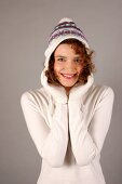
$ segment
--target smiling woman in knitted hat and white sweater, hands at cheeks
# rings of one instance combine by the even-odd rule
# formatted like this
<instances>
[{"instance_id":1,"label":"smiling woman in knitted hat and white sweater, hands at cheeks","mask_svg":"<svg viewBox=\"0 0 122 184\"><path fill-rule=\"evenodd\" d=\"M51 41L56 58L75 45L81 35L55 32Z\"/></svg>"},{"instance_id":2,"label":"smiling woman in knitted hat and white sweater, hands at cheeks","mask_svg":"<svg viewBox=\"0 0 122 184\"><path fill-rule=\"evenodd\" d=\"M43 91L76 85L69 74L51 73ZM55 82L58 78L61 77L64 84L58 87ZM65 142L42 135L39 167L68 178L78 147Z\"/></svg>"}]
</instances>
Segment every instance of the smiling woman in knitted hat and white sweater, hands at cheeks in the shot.
<instances>
[{"instance_id":1,"label":"smiling woman in knitted hat and white sweater, hands at cheeks","mask_svg":"<svg viewBox=\"0 0 122 184\"><path fill-rule=\"evenodd\" d=\"M72 19L50 36L42 87L22 95L29 133L42 158L38 184L105 184L100 152L113 91L94 83L87 40Z\"/></svg>"}]
</instances>

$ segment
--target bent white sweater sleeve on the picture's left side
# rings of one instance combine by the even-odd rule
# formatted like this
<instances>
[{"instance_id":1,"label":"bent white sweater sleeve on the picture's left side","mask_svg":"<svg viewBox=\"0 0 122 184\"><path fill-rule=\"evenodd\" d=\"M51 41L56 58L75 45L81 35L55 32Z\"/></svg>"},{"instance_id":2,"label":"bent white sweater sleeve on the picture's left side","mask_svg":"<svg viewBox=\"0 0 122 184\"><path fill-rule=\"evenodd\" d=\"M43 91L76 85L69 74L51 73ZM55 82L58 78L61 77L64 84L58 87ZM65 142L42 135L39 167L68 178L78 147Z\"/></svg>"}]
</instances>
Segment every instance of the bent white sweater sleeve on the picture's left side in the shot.
<instances>
[{"instance_id":1,"label":"bent white sweater sleeve on the picture's left side","mask_svg":"<svg viewBox=\"0 0 122 184\"><path fill-rule=\"evenodd\" d=\"M45 123L36 101L29 92L21 97L21 105L29 133L42 158L52 167L60 167L67 149L67 104L57 104L52 117L52 128Z\"/></svg>"}]
</instances>

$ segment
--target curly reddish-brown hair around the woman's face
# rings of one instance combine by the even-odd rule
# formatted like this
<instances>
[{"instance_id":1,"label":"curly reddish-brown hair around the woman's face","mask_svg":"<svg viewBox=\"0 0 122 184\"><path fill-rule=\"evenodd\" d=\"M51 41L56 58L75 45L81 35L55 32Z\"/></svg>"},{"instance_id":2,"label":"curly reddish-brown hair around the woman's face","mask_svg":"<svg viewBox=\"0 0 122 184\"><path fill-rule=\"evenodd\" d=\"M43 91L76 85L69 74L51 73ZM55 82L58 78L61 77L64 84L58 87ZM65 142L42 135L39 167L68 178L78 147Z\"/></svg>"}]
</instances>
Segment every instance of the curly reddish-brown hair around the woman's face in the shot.
<instances>
[{"instance_id":1,"label":"curly reddish-brown hair around the woman's face","mask_svg":"<svg viewBox=\"0 0 122 184\"><path fill-rule=\"evenodd\" d=\"M94 51L90 51L90 49L86 49L85 45L77 40L77 39L66 39L64 41L62 41L59 44L70 44L71 48L76 51L77 54L82 54L83 56L83 70L79 76L79 80L77 81L77 83L86 83L87 82L87 77L95 73L95 65L92 61L92 56ZM55 49L56 50L56 49ZM45 71L45 76L48 77L48 82L51 84L55 84L55 86L60 86L59 81L57 80L56 76L55 76L55 71L54 71L54 53L55 51L52 53L50 61L49 61L49 69Z\"/></svg>"}]
</instances>

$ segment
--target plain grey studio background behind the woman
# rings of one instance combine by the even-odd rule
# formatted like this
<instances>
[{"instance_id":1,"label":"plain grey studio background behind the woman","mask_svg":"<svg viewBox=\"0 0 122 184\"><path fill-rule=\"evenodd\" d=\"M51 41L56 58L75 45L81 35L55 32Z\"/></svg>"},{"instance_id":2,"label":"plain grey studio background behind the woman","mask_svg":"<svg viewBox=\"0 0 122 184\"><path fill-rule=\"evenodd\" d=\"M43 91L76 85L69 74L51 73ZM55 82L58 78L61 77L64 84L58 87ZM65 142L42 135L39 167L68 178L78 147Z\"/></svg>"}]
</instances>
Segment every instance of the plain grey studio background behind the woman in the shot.
<instances>
[{"instance_id":1,"label":"plain grey studio background behind the woman","mask_svg":"<svg viewBox=\"0 0 122 184\"><path fill-rule=\"evenodd\" d=\"M49 35L65 16L95 50L96 82L116 93L101 166L107 184L122 183L122 0L0 0L0 184L37 182L41 159L19 98L40 88Z\"/></svg>"}]
</instances>

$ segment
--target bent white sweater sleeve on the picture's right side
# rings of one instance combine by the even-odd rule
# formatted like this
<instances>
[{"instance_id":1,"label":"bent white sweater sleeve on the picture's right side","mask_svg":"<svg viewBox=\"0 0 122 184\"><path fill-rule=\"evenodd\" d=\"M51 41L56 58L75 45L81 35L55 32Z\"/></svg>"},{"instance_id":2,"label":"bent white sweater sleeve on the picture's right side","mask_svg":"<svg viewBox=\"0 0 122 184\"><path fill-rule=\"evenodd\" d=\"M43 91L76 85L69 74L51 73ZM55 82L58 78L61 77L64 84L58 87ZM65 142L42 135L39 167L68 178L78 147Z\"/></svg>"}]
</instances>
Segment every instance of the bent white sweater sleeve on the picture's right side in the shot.
<instances>
[{"instance_id":1,"label":"bent white sweater sleeve on the picture's right side","mask_svg":"<svg viewBox=\"0 0 122 184\"><path fill-rule=\"evenodd\" d=\"M69 129L77 163L85 166L100 153L104 145L110 126L113 91L108 88L104 92L89 126L79 104L77 101L69 102Z\"/></svg>"}]
</instances>

